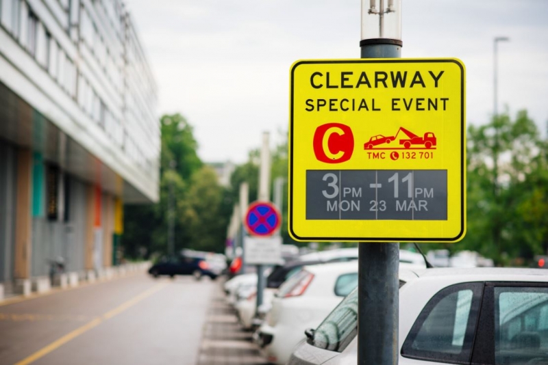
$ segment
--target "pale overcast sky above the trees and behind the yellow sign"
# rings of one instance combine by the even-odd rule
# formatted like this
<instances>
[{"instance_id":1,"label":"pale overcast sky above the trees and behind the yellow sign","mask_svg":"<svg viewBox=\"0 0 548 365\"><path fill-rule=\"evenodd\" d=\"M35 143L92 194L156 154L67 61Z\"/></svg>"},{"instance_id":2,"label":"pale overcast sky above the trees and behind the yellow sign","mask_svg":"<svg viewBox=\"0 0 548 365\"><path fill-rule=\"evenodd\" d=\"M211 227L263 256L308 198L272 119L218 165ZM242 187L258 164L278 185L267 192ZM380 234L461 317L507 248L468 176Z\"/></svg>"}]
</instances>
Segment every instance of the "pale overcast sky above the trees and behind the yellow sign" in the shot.
<instances>
[{"instance_id":1,"label":"pale overcast sky above the trees and behind the yellow sign","mask_svg":"<svg viewBox=\"0 0 548 365\"><path fill-rule=\"evenodd\" d=\"M360 57L358 0L125 0L155 75L159 116L195 126L204 161L237 163L287 131L289 68L297 59ZM402 57L466 65L468 124L493 113L493 38L499 111L548 123L548 1L403 0Z\"/></svg>"}]
</instances>

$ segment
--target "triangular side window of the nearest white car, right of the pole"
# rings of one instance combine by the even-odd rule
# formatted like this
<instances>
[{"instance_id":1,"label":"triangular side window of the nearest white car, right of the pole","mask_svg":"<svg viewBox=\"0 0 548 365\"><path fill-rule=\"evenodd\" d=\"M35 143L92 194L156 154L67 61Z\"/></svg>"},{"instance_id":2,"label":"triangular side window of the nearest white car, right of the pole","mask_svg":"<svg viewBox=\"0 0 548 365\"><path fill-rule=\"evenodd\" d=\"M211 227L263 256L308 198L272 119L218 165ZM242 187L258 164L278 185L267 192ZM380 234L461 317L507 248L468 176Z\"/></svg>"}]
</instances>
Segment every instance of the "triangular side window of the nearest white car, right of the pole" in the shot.
<instances>
[{"instance_id":1,"label":"triangular side window of the nearest white car, right of the pole","mask_svg":"<svg viewBox=\"0 0 548 365\"><path fill-rule=\"evenodd\" d=\"M467 363L482 283L449 286L427 303L403 343L404 357Z\"/></svg>"}]
</instances>

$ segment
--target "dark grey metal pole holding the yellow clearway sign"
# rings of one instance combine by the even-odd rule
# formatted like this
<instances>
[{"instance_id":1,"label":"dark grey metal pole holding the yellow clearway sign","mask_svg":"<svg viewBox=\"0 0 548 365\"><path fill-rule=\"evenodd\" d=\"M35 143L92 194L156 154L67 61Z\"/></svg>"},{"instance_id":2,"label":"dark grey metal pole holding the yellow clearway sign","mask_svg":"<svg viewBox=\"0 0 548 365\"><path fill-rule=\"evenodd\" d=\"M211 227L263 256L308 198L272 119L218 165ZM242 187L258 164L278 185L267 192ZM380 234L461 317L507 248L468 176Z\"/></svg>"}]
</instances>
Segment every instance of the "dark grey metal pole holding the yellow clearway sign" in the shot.
<instances>
[{"instance_id":1,"label":"dark grey metal pole holding the yellow clearway sign","mask_svg":"<svg viewBox=\"0 0 548 365\"><path fill-rule=\"evenodd\" d=\"M396 4L395 4L396 2ZM362 58L400 58L402 42L388 38L385 19L399 1L362 0ZM400 14L397 20L401 21ZM370 38L369 18L378 33ZM389 21L389 20L388 20ZM401 24L401 23L400 23ZM399 25L398 25L399 26ZM400 31L398 28L397 31ZM387 37L387 38L385 38ZM397 36L395 38L398 38ZM360 243L358 248L358 365L395 365L399 345L399 243Z\"/></svg>"}]
</instances>

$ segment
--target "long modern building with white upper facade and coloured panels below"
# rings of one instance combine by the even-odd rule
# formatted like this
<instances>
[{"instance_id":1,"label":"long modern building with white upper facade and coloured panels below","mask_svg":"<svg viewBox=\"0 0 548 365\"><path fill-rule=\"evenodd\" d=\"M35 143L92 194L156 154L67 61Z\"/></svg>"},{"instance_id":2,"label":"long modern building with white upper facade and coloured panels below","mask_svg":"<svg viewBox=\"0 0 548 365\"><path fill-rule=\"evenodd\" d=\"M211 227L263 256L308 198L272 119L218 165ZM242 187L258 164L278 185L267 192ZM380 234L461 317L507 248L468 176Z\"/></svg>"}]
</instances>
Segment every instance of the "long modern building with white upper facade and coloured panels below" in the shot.
<instances>
[{"instance_id":1,"label":"long modern building with white upper facade and coloured panels below","mask_svg":"<svg viewBox=\"0 0 548 365\"><path fill-rule=\"evenodd\" d=\"M157 90L119 0L0 0L0 283L113 264L158 200Z\"/></svg>"}]
</instances>

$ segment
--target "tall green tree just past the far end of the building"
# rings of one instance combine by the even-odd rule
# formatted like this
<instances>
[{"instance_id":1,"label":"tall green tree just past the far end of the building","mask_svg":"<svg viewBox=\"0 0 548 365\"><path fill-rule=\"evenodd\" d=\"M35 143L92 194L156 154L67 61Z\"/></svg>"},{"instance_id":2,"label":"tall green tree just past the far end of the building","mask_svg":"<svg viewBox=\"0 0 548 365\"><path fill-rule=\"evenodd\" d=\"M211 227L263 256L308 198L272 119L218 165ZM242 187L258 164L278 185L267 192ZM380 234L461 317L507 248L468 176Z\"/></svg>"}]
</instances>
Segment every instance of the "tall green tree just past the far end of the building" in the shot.
<instances>
[{"instance_id":1,"label":"tall green tree just past the far end of the building","mask_svg":"<svg viewBox=\"0 0 548 365\"><path fill-rule=\"evenodd\" d=\"M170 199L175 203L175 252L182 248L222 252L229 216L223 188L215 173L203 167L192 126L179 113L162 116L160 126L160 201L124 207L125 254L137 257L142 248L149 254L166 253Z\"/></svg>"}]
</instances>

